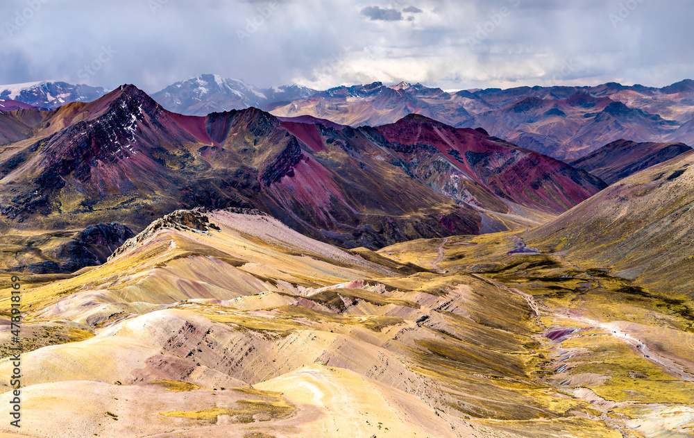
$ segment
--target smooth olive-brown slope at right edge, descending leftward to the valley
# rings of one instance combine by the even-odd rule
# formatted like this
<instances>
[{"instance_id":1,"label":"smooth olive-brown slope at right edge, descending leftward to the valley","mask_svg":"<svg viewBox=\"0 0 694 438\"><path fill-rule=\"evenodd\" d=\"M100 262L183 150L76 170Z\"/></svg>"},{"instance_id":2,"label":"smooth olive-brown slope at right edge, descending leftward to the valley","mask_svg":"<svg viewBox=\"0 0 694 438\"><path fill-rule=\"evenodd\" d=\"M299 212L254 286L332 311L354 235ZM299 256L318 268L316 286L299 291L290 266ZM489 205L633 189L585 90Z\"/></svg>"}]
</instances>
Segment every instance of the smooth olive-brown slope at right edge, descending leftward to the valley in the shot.
<instances>
[{"instance_id":1,"label":"smooth olive-brown slope at right edge, descending leftward to the valley","mask_svg":"<svg viewBox=\"0 0 694 438\"><path fill-rule=\"evenodd\" d=\"M694 152L649 167L527 233L528 244L566 251L636 285L693 297Z\"/></svg>"}]
</instances>

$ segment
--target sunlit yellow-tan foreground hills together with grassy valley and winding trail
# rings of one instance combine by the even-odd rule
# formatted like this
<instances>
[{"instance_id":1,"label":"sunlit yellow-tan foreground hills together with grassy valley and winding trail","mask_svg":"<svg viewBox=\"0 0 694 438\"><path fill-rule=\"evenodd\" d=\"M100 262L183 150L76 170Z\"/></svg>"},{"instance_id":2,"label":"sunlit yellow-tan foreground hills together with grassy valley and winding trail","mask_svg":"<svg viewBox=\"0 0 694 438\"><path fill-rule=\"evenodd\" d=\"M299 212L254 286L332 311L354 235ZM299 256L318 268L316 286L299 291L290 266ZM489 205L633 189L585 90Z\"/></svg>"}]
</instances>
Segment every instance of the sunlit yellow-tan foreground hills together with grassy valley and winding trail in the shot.
<instances>
[{"instance_id":1,"label":"sunlit yellow-tan foreground hills together with grassy valley and winding trail","mask_svg":"<svg viewBox=\"0 0 694 438\"><path fill-rule=\"evenodd\" d=\"M253 210L170 214L101 267L22 279L24 433L690 434L688 305L513 236L373 253ZM80 430L39 420L56 399Z\"/></svg>"}]
</instances>

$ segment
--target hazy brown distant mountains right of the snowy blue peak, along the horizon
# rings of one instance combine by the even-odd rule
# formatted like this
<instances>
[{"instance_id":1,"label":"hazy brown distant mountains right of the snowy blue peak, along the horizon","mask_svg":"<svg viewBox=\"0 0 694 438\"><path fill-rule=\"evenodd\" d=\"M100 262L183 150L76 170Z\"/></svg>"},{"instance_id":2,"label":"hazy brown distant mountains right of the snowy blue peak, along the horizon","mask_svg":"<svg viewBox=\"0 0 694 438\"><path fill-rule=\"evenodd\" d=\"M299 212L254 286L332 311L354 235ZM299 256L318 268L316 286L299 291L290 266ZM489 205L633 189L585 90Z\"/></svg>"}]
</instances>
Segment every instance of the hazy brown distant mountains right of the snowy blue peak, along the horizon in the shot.
<instances>
[{"instance_id":1,"label":"hazy brown distant mountains right of the snowy blue peak, along the horizon","mask_svg":"<svg viewBox=\"0 0 694 438\"><path fill-rule=\"evenodd\" d=\"M280 117L311 115L351 126L390 124L410 113L491 135L559 159L609 142L691 143L694 81L668 87L516 87L443 92L382 83L337 87L272 108Z\"/></svg>"}]
</instances>

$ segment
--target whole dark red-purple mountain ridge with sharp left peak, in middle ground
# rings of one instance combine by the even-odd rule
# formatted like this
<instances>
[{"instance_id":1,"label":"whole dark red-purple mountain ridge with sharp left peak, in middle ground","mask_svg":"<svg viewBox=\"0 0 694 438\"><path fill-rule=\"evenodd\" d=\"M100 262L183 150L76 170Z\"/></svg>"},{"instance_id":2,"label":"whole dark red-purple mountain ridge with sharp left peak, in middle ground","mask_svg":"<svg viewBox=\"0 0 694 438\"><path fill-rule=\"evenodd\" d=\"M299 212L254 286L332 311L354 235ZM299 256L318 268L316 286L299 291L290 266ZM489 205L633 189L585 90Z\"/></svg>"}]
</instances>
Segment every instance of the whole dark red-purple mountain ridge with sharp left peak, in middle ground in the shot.
<instances>
[{"instance_id":1,"label":"whole dark red-purple mountain ridge with sharp left peak, in middle ground","mask_svg":"<svg viewBox=\"0 0 694 438\"><path fill-rule=\"evenodd\" d=\"M306 235L378 248L536 224L604 187L424 117L358 129L311 122L255 108L178 115L133 85L49 112L2 113L3 228L139 230L178 208L253 207ZM22 264L50 258L36 254Z\"/></svg>"}]
</instances>

